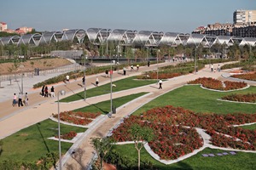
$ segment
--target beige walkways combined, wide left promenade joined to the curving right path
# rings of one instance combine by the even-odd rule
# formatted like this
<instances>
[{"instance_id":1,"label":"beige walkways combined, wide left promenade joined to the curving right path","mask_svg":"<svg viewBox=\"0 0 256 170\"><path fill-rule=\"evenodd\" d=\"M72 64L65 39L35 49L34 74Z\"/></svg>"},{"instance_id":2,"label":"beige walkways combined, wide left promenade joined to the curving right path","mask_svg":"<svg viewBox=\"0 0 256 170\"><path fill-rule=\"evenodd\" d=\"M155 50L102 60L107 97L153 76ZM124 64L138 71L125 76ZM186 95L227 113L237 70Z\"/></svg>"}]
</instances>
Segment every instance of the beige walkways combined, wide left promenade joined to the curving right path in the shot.
<instances>
[{"instance_id":1,"label":"beige walkways combined, wide left promenade joined to the curving right path","mask_svg":"<svg viewBox=\"0 0 256 170\"><path fill-rule=\"evenodd\" d=\"M160 65L170 65L172 63L164 63ZM141 67L140 71L147 71L149 69L156 69L156 65L150 65L150 67ZM140 74L140 71L128 71L128 76L131 77L137 74ZM183 86L186 82L190 80L194 80L197 77L214 77L219 78L221 77L221 74L223 72L211 72L209 67L207 66L202 71L199 71L198 74L189 74L182 77L175 77L170 79L167 82L163 83L163 89L158 89L157 84L151 84L145 87L141 88L133 88L130 90L125 90L122 92L114 93L114 98L119 98L121 96L125 96L128 94L137 94L139 92L149 92L150 94L145 95L141 98L135 99L130 103L130 105L124 105L122 107L119 107L117 110L117 114L113 115L112 118L105 117L102 119L102 122L98 122L96 126L90 127L88 129L82 139L79 139L78 142L73 144L73 147L71 150L67 152L65 156L63 156L62 160L62 167L63 169L84 169L87 167L88 163L91 160L91 157L93 156L93 147L90 144L90 139L94 137L104 137L108 134L109 129L113 128L119 120L121 120L124 116L127 116L131 114L133 111L137 110L142 105L148 103L150 100L155 99L156 97L166 94L167 92L179 88ZM96 80L96 77L99 77L100 79L100 85L104 83L109 82L109 78L101 77L104 76L104 74L100 75L93 75L86 77L86 87L87 88L93 88L94 86L91 84L94 83ZM121 78L124 78L124 76L121 76L118 72L113 73L113 80L118 80ZM67 97L68 95L83 91L84 88L80 86L81 80L74 81L72 80L71 83L67 84L65 86L63 83L59 83L55 85L55 91L58 92L61 89L65 89L67 91ZM60 99L63 98L60 96ZM77 102L73 102L72 104L64 104L61 103L60 109L61 111L71 111L73 109L77 109L80 107L84 107L86 105L91 105L94 103L98 103L100 101L108 100L109 94L102 95L101 97L94 97L90 99L80 100ZM42 98L39 96L38 93L30 94L30 102L31 105L28 107L17 108L11 106L11 100L7 101L7 103L2 102L0 103L1 108L6 108L4 110L1 110L0 116L1 116L1 122L0 122L0 139L3 139L4 137L8 136L9 134L15 133L19 131L20 129L24 127L28 127L36 122L41 122L49 116L51 116L52 113L57 112L57 104L55 103L56 99L49 99L49 98ZM7 105L10 105L7 107ZM45 109L47 108L47 110ZM3 111L3 113L2 113ZM22 120L22 121L20 121ZM12 126L9 126L12 125ZM72 154L72 150L75 150L75 153Z\"/></svg>"}]
</instances>

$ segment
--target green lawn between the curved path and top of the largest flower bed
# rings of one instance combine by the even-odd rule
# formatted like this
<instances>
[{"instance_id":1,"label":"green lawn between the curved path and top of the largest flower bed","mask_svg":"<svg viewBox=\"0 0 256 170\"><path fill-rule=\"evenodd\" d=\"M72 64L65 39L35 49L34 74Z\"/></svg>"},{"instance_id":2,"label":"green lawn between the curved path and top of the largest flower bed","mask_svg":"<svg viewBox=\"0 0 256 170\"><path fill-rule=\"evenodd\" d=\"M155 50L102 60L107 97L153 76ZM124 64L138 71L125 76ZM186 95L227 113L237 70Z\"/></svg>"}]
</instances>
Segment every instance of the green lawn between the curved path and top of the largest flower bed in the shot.
<instances>
[{"instance_id":1,"label":"green lawn between the curved path and top of the largest flower bed","mask_svg":"<svg viewBox=\"0 0 256 170\"><path fill-rule=\"evenodd\" d=\"M176 107L180 106L185 109L201 113L228 114L242 112L253 114L256 113L256 105L232 103L227 101L219 101L217 99L220 99L224 95L252 94L255 91L256 87L250 87L233 92L216 92L203 89L200 87L200 85L188 85L177 88L167 94L163 94L160 97L153 99L148 104L143 105L143 107L135 111L133 114L140 115L144 111L165 105L173 105Z\"/></svg>"}]
</instances>

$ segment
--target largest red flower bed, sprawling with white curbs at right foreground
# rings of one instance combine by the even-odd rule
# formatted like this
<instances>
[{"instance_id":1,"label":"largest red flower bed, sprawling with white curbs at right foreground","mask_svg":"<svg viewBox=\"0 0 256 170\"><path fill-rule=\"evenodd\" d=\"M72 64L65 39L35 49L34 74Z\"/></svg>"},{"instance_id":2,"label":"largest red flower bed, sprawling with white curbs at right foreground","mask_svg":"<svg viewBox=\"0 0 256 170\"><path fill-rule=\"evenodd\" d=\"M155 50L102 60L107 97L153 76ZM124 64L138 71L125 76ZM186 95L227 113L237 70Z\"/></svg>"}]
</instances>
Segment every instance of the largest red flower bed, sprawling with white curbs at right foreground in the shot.
<instances>
[{"instance_id":1,"label":"largest red flower bed, sprawling with white curbs at right foreground","mask_svg":"<svg viewBox=\"0 0 256 170\"><path fill-rule=\"evenodd\" d=\"M189 154L202 146L201 136L195 127L207 130L212 136L212 144L242 150L255 150L256 132L234 124L256 122L256 114L242 113L217 115L195 114L181 107L167 105L146 111L142 116L130 116L113 130L113 139L118 142L131 141L129 129L134 123L154 129L154 140L148 142L151 150L160 159L172 160ZM230 135L231 138L223 134ZM240 140L236 140L240 139Z\"/></svg>"}]
</instances>

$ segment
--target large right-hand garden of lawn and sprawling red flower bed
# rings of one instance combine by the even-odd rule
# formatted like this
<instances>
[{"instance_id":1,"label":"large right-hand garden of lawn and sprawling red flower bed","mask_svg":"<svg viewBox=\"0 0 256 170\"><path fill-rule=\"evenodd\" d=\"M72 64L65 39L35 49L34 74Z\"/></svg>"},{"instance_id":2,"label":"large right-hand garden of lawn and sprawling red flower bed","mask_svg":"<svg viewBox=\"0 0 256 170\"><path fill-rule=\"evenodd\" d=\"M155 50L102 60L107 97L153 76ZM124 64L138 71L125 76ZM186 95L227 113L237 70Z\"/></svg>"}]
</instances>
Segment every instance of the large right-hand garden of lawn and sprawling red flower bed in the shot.
<instances>
[{"instance_id":1,"label":"large right-hand garden of lawn and sprawling red flower bed","mask_svg":"<svg viewBox=\"0 0 256 170\"><path fill-rule=\"evenodd\" d=\"M237 87L243 88L243 86ZM201 127L212 137L211 144L219 147L218 150L206 148L195 156L172 165L161 164L155 161L148 151L142 150L142 167L147 169L254 169L253 164L256 161L253 157L256 153L230 152L221 148L255 150L255 124L244 127L232 127L232 125L256 122L254 114L256 105L230 103L218 99L229 94L249 94L255 90L255 87L250 87L223 93L207 90L198 85L183 86L152 100L135 111L132 116L124 120L124 123L113 130L112 137L117 141L132 141L129 133L132 124L153 128L154 140L148 142L150 149L160 157L160 160L173 160L202 146L201 136L195 131L195 127ZM125 144L125 147L115 145L107 160L122 169L136 169L137 150L134 144ZM202 161L206 163L198 163Z\"/></svg>"}]
</instances>

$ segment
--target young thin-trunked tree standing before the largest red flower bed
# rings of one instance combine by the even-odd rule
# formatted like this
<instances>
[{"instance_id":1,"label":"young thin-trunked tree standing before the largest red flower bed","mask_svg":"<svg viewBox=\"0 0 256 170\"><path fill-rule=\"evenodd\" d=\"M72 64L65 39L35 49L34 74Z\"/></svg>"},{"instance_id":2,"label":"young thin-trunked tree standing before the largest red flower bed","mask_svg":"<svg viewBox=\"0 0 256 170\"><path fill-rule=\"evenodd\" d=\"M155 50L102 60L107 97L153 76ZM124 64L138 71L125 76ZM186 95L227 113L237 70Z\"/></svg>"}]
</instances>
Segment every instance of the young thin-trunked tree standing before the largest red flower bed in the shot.
<instances>
[{"instance_id":1,"label":"young thin-trunked tree standing before the largest red flower bed","mask_svg":"<svg viewBox=\"0 0 256 170\"><path fill-rule=\"evenodd\" d=\"M134 146L137 150L137 167L140 170L141 150L144 144L154 139L154 131L149 127L141 127L138 124L134 124L131 126L129 133L131 133L131 139L134 141Z\"/></svg>"}]
</instances>

